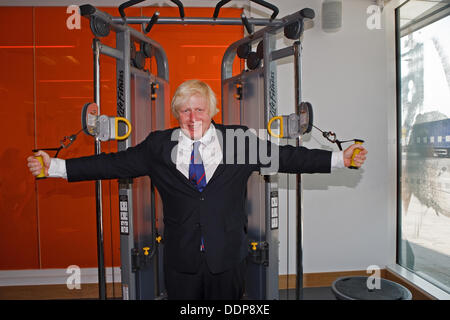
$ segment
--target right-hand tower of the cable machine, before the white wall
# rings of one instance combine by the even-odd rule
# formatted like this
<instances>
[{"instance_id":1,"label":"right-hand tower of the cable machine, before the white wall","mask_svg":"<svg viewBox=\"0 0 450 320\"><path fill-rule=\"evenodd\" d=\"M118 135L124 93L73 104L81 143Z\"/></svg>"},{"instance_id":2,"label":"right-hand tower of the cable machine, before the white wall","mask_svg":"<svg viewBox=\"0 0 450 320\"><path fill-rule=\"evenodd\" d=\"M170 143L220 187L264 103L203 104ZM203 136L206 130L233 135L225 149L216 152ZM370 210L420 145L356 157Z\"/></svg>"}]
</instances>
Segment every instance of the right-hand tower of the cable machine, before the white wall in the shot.
<instances>
[{"instance_id":1,"label":"right-hand tower of the cable machine, before the white wall","mask_svg":"<svg viewBox=\"0 0 450 320\"><path fill-rule=\"evenodd\" d=\"M303 114L301 99L301 43L304 21L314 18L314 11L303 9L282 19L276 26L267 26L233 43L222 60L222 117L224 124L240 124L249 128L269 129L269 120L277 116L277 60L293 56L295 69L295 106ZM294 40L292 46L275 49L277 34ZM256 51L252 45L257 43ZM246 59L248 70L232 74L235 55ZM304 117L302 117L304 118ZM312 121L312 113L310 119ZM307 120L309 123L309 120ZM301 134L306 133L303 130ZM266 139L270 139L267 135ZM273 142L276 142L272 139ZM297 140L299 145L299 140ZM296 299L302 298L302 217L301 177L297 175L297 283ZM249 264L246 295L249 299L279 299L279 199L277 175L254 173L248 182Z\"/></svg>"}]
</instances>

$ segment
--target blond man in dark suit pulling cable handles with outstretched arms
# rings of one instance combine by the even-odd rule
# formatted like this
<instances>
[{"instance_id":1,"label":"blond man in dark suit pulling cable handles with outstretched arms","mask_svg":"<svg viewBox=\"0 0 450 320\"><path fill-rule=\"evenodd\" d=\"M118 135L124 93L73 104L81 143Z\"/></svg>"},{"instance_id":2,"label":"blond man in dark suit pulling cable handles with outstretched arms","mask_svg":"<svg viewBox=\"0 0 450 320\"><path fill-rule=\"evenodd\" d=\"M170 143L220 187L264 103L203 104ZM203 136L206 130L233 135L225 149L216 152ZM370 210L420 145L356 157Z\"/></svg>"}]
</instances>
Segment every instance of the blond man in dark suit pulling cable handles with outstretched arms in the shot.
<instances>
[{"instance_id":1,"label":"blond man in dark suit pulling cable handles with outstretched arms","mask_svg":"<svg viewBox=\"0 0 450 320\"><path fill-rule=\"evenodd\" d=\"M169 299L240 299L248 243L245 195L255 171L329 173L332 167L361 166L367 151L343 152L277 146L243 126L212 121L216 99L204 82L181 84L172 100L180 127L155 131L126 151L74 159L44 160L46 176L68 181L148 175L164 206L164 267ZM28 158L33 175L42 169Z\"/></svg>"}]
</instances>

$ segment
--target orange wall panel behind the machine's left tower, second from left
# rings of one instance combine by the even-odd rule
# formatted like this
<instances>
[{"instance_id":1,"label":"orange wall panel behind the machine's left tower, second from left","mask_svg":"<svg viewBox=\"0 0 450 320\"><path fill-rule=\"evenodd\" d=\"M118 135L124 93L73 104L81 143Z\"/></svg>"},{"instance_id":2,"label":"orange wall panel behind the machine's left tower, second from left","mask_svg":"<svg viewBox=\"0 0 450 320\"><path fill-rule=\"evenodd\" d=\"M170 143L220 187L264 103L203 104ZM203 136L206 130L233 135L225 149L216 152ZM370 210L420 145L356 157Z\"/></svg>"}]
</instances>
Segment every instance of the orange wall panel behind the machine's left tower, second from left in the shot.
<instances>
[{"instance_id":1,"label":"orange wall panel behind the machine's left tower, second from left","mask_svg":"<svg viewBox=\"0 0 450 320\"><path fill-rule=\"evenodd\" d=\"M117 14L117 9L108 9ZM131 10L130 10L131 11ZM136 11L139 12L139 11ZM89 21L80 30L66 28L68 14L61 8L36 8L36 109L38 147L57 146L62 137L81 128L81 108L93 101L93 35ZM115 46L115 34L101 39ZM101 113L116 114L115 61L101 57ZM117 150L102 143L103 152ZM90 155L94 140L81 133L62 150L61 158ZM105 262L120 263L117 182L103 182ZM61 179L38 182L42 268L97 265L95 183L67 183ZM112 222L112 224L111 224ZM114 236L111 238L111 231ZM113 249L114 248L114 249ZM113 253L114 250L114 253Z\"/></svg>"}]
</instances>

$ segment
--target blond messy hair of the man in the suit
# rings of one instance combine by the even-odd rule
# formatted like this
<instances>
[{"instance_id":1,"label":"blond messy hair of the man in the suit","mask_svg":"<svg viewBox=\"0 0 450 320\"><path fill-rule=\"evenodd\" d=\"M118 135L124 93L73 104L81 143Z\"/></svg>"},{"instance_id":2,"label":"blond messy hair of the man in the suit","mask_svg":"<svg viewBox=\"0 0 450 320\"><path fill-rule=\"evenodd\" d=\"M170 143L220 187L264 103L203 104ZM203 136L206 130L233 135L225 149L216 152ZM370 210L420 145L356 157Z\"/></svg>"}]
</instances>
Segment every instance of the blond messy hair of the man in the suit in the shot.
<instances>
[{"instance_id":1,"label":"blond messy hair of the man in the suit","mask_svg":"<svg viewBox=\"0 0 450 320\"><path fill-rule=\"evenodd\" d=\"M180 84L173 95L170 107L175 118L179 119L180 114L178 111L180 107L182 107L190 97L196 94L205 97L208 102L209 115L211 118L219 112L219 109L216 108L216 95L211 87L206 82L194 79L187 80Z\"/></svg>"}]
</instances>

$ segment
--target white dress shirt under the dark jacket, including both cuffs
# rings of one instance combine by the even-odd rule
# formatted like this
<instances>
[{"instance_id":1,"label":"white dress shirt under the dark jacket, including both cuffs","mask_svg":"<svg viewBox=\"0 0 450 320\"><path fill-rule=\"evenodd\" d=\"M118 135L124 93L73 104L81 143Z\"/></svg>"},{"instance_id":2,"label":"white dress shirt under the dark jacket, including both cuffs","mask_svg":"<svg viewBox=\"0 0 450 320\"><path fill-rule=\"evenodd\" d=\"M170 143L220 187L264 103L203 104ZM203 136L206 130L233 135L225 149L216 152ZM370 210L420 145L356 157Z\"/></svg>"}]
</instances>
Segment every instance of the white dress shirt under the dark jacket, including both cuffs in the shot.
<instances>
[{"instance_id":1,"label":"white dress shirt under the dark jacket, including both cuffs","mask_svg":"<svg viewBox=\"0 0 450 320\"><path fill-rule=\"evenodd\" d=\"M178 171L189 179L192 145L195 141L186 136L182 130L179 130L179 132L176 167ZM208 183L223 158L222 147L216 134L216 128L212 123L199 141L201 142L199 152L205 167L206 182ZM331 154L331 169L337 168L345 168L343 151L336 151ZM52 178L67 179L66 161L52 158L48 174Z\"/></svg>"}]
</instances>

